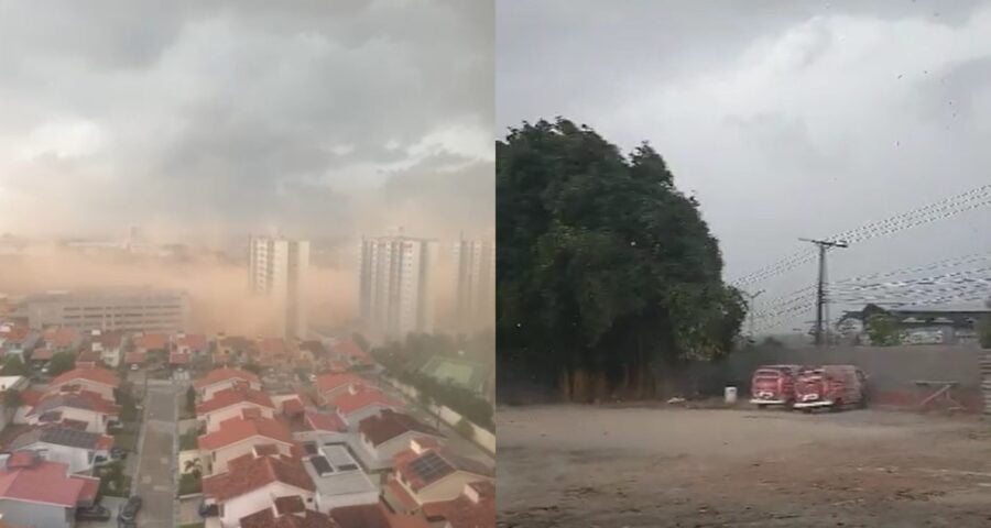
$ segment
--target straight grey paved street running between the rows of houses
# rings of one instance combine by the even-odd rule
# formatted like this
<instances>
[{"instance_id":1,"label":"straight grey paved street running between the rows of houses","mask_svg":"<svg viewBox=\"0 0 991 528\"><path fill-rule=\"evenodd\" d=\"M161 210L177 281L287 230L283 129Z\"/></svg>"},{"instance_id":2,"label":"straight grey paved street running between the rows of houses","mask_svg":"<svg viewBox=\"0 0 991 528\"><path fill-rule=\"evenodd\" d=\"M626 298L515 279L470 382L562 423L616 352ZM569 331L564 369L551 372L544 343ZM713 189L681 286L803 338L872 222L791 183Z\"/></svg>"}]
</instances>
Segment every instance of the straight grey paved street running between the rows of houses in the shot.
<instances>
[{"instance_id":1,"label":"straight grey paved street running between the rows of houses","mask_svg":"<svg viewBox=\"0 0 991 528\"><path fill-rule=\"evenodd\" d=\"M174 453L176 387L149 386L144 440L138 448L137 493L144 499L138 526L173 528L175 503ZM115 512L116 515L116 512Z\"/></svg>"}]
</instances>

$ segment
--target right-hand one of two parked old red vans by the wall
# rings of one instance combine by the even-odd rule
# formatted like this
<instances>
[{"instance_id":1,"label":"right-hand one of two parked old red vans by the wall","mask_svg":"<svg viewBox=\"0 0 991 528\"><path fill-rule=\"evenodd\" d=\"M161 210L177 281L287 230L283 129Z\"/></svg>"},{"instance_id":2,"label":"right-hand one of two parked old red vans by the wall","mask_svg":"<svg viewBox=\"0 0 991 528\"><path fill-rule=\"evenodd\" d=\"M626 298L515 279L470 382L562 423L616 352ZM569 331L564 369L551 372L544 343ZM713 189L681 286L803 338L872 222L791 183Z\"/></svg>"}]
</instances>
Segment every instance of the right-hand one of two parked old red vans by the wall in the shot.
<instances>
[{"instance_id":1,"label":"right-hand one of two parked old red vans by the wall","mask_svg":"<svg viewBox=\"0 0 991 528\"><path fill-rule=\"evenodd\" d=\"M804 366L795 380L794 408L840 410L867 405L867 376L853 365Z\"/></svg>"}]
</instances>

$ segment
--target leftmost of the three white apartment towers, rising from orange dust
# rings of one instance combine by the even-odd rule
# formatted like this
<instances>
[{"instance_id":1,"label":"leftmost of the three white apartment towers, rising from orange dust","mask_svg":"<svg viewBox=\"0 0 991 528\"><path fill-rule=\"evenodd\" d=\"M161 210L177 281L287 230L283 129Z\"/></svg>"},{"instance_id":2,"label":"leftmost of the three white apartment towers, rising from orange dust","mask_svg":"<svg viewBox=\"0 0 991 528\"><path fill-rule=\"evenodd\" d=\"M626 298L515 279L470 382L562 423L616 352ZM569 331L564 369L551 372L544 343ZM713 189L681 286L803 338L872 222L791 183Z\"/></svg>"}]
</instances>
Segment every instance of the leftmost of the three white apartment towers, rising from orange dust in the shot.
<instances>
[{"instance_id":1,"label":"leftmost of the three white apartment towers, rising from orange dust","mask_svg":"<svg viewBox=\"0 0 991 528\"><path fill-rule=\"evenodd\" d=\"M309 267L309 242L281 237L252 237L249 243L251 292L275 304L280 332L306 339L303 294Z\"/></svg>"}]
</instances>

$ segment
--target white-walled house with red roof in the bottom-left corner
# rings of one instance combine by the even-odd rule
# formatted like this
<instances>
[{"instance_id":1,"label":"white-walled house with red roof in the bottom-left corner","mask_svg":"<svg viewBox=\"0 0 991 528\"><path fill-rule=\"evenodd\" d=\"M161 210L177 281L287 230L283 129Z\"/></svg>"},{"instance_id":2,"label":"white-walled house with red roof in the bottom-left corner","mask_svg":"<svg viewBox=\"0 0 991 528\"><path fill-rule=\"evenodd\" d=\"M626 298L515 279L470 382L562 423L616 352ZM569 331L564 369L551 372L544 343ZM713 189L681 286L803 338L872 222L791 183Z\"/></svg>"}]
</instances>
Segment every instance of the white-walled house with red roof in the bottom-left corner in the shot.
<instances>
[{"instance_id":1,"label":"white-walled house with red roof in the bottom-left corner","mask_svg":"<svg viewBox=\"0 0 991 528\"><path fill-rule=\"evenodd\" d=\"M99 479L73 475L68 466L17 451L0 455L0 512L14 526L70 528L76 508L92 506Z\"/></svg>"}]
</instances>

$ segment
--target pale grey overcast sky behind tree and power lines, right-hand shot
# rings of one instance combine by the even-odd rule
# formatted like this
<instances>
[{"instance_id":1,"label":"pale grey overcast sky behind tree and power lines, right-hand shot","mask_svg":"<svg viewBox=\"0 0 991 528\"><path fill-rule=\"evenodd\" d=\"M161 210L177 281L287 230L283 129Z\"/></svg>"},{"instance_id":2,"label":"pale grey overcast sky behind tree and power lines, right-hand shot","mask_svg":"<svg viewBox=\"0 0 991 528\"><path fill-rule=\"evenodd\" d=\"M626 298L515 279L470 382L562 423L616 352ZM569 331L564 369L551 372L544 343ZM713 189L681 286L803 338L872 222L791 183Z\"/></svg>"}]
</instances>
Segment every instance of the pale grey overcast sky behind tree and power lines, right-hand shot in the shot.
<instances>
[{"instance_id":1,"label":"pale grey overcast sky behind tree and power lines, right-hand shot","mask_svg":"<svg viewBox=\"0 0 991 528\"><path fill-rule=\"evenodd\" d=\"M624 150L650 141L727 278L991 184L988 1L500 0L496 38L497 135L564 116ZM837 251L830 276L991 253L989 210ZM770 300L814 277L748 288Z\"/></svg>"}]
</instances>

